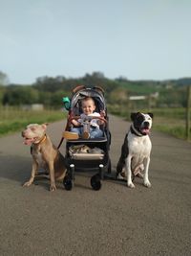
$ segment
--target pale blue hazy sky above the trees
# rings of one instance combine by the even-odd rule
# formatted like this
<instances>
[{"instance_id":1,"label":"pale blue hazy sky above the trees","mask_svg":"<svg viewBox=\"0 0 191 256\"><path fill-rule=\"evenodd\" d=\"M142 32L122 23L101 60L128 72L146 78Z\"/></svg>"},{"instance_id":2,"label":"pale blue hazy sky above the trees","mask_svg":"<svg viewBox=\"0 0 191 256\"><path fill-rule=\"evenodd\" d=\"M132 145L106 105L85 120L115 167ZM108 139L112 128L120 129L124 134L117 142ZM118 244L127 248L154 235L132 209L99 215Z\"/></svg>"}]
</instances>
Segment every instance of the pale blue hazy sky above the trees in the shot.
<instances>
[{"instance_id":1,"label":"pale blue hazy sky above the trees","mask_svg":"<svg viewBox=\"0 0 191 256\"><path fill-rule=\"evenodd\" d=\"M21 84L191 77L191 1L0 0L0 71Z\"/></svg>"}]
</instances>

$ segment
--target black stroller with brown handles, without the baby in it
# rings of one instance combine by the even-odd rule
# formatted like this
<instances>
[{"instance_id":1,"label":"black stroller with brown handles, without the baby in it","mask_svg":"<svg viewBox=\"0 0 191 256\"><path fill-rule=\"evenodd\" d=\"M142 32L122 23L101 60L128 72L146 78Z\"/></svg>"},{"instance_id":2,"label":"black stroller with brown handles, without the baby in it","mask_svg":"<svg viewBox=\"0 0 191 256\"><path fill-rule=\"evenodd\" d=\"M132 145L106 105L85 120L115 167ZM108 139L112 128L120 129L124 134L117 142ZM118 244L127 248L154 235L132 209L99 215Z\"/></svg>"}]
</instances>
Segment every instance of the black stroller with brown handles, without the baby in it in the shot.
<instances>
[{"instance_id":1,"label":"black stroller with brown handles, without the baby in it","mask_svg":"<svg viewBox=\"0 0 191 256\"><path fill-rule=\"evenodd\" d=\"M105 105L104 91L101 87L87 88L84 85L79 85L74 88L70 103L68 102L66 107L69 110L69 114L65 130L71 130L72 119L79 119L79 115L81 114L81 100L85 97L92 97L94 99L96 112L104 111L104 118L91 118L104 120L104 125L100 126L103 130L103 137L89 139L78 138L66 141L65 161L67 174L63 180L66 190L72 190L75 172L96 173L91 177L90 182L94 190L101 188L101 180L104 179L104 174L106 172L108 174L111 173L111 159L109 157L111 133L109 131L109 118ZM84 121L84 125L87 125L87 122L87 120Z\"/></svg>"}]
</instances>

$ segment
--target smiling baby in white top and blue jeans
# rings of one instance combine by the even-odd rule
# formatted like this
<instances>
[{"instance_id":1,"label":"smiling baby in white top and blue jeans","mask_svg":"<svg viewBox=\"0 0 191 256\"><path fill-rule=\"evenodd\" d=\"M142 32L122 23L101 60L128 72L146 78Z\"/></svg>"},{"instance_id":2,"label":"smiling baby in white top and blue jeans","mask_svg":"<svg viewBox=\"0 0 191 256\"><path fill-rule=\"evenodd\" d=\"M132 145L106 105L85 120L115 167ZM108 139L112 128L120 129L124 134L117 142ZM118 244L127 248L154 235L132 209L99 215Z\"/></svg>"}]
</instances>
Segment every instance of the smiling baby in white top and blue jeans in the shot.
<instances>
[{"instance_id":1,"label":"smiling baby in white top and blue jeans","mask_svg":"<svg viewBox=\"0 0 191 256\"><path fill-rule=\"evenodd\" d=\"M85 97L81 100L81 109L83 111L80 114L78 120L72 119L71 123L73 128L70 131L65 131L63 136L66 139L77 139L78 137L83 139L99 138L103 136L103 130L99 126L104 125L104 121L96 119L95 117L104 118L104 110L96 112L96 104L92 97Z\"/></svg>"}]
</instances>

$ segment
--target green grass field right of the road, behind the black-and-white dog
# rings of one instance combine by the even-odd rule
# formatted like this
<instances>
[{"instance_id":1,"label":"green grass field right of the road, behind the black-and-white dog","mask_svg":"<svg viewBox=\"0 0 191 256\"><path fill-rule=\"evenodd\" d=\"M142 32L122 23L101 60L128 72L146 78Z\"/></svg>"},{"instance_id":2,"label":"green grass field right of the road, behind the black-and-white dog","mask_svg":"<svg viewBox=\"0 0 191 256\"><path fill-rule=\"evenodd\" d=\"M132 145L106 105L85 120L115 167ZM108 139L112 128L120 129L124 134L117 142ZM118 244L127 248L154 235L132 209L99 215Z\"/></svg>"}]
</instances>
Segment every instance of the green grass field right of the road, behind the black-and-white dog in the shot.
<instances>
[{"instance_id":1,"label":"green grass field right of the road, behind the black-and-white dog","mask_svg":"<svg viewBox=\"0 0 191 256\"><path fill-rule=\"evenodd\" d=\"M185 139L185 108L153 108L153 109L124 109L121 106L109 106L109 111L130 120L131 112L153 112L153 128L177 138ZM191 117L190 117L191 118ZM191 132L190 132L191 133Z\"/></svg>"}]
</instances>

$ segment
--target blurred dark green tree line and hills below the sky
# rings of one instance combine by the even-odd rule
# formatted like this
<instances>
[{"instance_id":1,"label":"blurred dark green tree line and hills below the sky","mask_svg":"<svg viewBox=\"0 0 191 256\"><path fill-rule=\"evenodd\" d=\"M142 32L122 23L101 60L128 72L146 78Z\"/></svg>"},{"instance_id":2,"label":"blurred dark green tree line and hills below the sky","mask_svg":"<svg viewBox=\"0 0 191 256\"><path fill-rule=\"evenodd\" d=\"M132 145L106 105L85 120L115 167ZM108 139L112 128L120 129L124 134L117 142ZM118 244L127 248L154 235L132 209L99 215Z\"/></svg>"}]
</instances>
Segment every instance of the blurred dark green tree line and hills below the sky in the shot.
<instances>
[{"instance_id":1,"label":"blurred dark green tree line and hills below the sky","mask_svg":"<svg viewBox=\"0 0 191 256\"><path fill-rule=\"evenodd\" d=\"M171 81L129 81L119 77L115 80L105 78L103 73L94 72L82 78L40 77L30 85L10 84L6 74L0 72L0 105L31 105L60 107L62 97L70 97L77 85L87 87L101 86L106 101L110 105L130 105L130 96L145 95L152 104L158 106L185 106L186 86L191 79ZM158 97L153 97L157 95ZM132 104L132 103L131 103ZM142 107L145 102L137 102Z\"/></svg>"}]
</instances>

